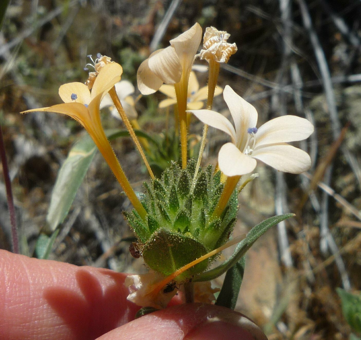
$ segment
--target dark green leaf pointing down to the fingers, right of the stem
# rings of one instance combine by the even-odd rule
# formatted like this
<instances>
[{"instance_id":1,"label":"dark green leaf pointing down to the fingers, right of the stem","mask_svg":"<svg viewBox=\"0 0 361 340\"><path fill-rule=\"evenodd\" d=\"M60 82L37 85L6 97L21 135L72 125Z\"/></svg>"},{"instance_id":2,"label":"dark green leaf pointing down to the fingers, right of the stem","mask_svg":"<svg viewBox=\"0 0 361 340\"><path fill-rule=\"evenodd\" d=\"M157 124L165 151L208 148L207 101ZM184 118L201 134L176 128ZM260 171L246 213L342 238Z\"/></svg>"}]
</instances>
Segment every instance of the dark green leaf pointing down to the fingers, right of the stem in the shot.
<instances>
[{"instance_id":1,"label":"dark green leaf pointing down to the fingers, right of the stem","mask_svg":"<svg viewBox=\"0 0 361 340\"><path fill-rule=\"evenodd\" d=\"M239 289L242 284L244 267L246 258L245 255L230 269L227 270L226 277L223 281L223 286L219 292L216 305L235 309Z\"/></svg>"}]
</instances>

